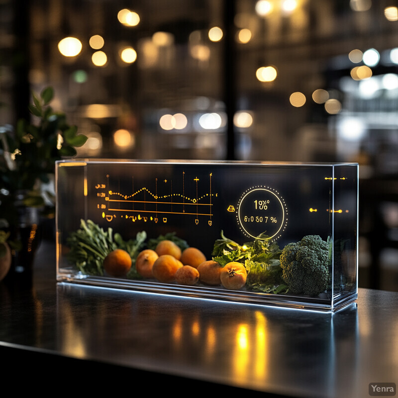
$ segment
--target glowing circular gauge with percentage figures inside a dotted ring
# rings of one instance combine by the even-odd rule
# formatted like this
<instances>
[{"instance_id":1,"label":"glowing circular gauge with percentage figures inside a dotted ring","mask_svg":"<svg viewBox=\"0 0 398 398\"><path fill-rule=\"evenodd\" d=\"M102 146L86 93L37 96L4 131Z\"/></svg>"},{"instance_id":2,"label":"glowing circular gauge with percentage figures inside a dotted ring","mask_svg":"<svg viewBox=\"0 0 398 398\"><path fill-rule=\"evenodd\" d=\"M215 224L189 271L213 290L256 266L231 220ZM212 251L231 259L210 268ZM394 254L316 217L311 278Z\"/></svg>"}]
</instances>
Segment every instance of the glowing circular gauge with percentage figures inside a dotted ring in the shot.
<instances>
[{"instance_id":1,"label":"glowing circular gauge with percentage figures inside a dotted ring","mask_svg":"<svg viewBox=\"0 0 398 398\"><path fill-rule=\"evenodd\" d=\"M253 187L245 191L238 204L238 222L243 232L262 240L278 239L287 224L285 200L274 189Z\"/></svg>"}]
</instances>

